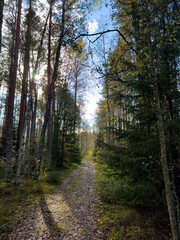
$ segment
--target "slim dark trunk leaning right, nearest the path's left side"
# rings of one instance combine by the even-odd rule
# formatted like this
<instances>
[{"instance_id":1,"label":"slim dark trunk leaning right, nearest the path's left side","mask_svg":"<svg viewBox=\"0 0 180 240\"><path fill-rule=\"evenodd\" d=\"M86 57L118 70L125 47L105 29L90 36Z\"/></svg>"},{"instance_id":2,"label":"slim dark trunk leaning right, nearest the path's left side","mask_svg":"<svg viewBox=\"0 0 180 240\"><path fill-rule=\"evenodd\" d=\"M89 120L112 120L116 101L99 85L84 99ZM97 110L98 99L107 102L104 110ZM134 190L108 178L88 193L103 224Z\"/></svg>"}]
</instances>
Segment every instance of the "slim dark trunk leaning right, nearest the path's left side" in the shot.
<instances>
[{"instance_id":1,"label":"slim dark trunk leaning right, nearest the path's left side","mask_svg":"<svg viewBox=\"0 0 180 240\"><path fill-rule=\"evenodd\" d=\"M42 130L41 130L41 138L40 138L40 141L39 141L37 168L36 168L35 175L34 175L34 179L37 179L37 180L38 180L39 174L40 174L46 127L47 127L47 123L48 123L48 120L49 120L49 114L50 114L50 109L51 109L51 101L52 101L53 95L54 95L54 84L55 84L55 81L56 81L56 78L57 78L57 71L58 71L58 66L59 66L59 58L60 58L62 40L64 38L64 32L65 32L65 28L64 28L64 24L65 24L65 3L66 3L66 0L63 0L63 2L62 2L61 34L60 34L59 41L58 41L58 47L57 47L57 51L56 51L56 60L55 60L55 65L54 65L54 72L53 72L53 76L52 76L51 85L50 85L50 88L49 88L49 95L48 95L48 100L47 100L47 103L46 103L46 111L45 111L45 115L44 115L44 122L43 122Z\"/></svg>"}]
</instances>

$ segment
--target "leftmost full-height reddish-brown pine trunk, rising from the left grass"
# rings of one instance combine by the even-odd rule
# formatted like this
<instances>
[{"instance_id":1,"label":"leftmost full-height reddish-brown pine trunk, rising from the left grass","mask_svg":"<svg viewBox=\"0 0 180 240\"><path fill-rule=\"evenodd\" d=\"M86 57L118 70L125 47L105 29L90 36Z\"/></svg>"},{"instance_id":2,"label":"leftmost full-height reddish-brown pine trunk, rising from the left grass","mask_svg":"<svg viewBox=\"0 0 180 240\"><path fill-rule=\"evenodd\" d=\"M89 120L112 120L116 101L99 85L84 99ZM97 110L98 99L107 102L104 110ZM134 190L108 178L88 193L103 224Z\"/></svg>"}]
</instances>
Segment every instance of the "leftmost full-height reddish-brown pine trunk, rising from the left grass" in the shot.
<instances>
[{"instance_id":1,"label":"leftmost full-height reddish-brown pine trunk, rising from the left grass","mask_svg":"<svg viewBox=\"0 0 180 240\"><path fill-rule=\"evenodd\" d=\"M6 164L5 164L5 180L9 181L12 172L12 154L13 154L13 111L14 111L14 96L16 88L16 76L18 65L18 53L20 44L20 24L21 24L21 5L22 0L18 1L18 16L16 24L16 38L14 50L14 62L10 73L10 86L8 95L8 110L7 110L7 138L6 138Z\"/></svg>"}]
</instances>

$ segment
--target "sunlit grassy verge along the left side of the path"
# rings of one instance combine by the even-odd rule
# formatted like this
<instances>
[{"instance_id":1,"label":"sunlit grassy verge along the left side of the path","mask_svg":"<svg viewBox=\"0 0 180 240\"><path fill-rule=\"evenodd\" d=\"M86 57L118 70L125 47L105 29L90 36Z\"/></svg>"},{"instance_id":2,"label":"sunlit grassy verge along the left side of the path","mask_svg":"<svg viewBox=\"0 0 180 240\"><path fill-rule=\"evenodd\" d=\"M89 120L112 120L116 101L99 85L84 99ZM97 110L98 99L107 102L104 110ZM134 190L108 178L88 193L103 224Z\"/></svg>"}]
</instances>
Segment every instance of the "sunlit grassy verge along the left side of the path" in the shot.
<instances>
[{"instance_id":1,"label":"sunlit grassy verge along the left side of the path","mask_svg":"<svg viewBox=\"0 0 180 240\"><path fill-rule=\"evenodd\" d=\"M5 239L30 214L32 207L39 204L41 196L52 193L76 167L42 173L38 182L22 178L19 186L0 183L0 238Z\"/></svg>"}]
</instances>

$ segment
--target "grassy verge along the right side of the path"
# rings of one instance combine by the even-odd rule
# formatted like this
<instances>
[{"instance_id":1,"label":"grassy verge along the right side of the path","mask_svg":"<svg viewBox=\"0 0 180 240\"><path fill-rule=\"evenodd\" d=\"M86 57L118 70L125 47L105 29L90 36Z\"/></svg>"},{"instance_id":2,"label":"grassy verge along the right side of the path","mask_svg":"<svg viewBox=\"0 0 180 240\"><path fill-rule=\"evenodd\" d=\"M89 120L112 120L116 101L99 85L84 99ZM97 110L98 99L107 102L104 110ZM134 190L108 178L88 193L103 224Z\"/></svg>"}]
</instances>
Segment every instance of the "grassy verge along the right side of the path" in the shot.
<instances>
[{"instance_id":1,"label":"grassy verge along the right side of the path","mask_svg":"<svg viewBox=\"0 0 180 240\"><path fill-rule=\"evenodd\" d=\"M107 177L104 165L94 161L96 166L96 184L101 204L97 207L102 212L98 227L107 240L170 240L169 229L159 228L162 219L159 214L149 214L144 209L128 207L122 202L121 182L117 178ZM157 221L157 219L158 221Z\"/></svg>"}]
</instances>

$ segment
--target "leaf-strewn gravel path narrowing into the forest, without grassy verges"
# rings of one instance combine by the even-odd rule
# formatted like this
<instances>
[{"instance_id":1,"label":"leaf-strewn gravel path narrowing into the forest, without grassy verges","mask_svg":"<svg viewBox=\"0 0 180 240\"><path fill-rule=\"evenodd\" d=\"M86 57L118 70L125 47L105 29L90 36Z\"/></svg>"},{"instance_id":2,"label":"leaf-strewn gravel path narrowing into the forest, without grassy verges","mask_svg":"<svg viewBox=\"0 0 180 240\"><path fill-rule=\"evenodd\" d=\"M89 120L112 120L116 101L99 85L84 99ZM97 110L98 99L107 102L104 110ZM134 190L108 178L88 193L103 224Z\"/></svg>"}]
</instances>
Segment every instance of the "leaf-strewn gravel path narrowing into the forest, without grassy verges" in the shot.
<instances>
[{"instance_id":1,"label":"leaf-strewn gravel path narrowing into the forest, without grassy verges","mask_svg":"<svg viewBox=\"0 0 180 240\"><path fill-rule=\"evenodd\" d=\"M99 203L95 186L95 167L86 157L68 179L40 204L9 235L12 240L100 240L96 226Z\"/></svg>"}]
</instances>

